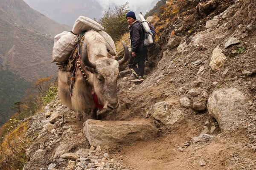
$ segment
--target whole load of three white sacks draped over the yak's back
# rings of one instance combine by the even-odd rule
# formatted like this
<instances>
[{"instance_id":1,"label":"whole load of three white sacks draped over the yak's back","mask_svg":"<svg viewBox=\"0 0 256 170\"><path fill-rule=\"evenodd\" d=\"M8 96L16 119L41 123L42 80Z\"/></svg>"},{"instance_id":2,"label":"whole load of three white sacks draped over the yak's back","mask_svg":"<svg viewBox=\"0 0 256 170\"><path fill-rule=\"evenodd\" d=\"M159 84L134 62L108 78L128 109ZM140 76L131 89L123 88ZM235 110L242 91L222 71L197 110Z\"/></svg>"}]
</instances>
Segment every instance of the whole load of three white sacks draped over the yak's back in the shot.
<instances>
[{"instance_id":1,"label":"whole load of three white sacks draped over the yak's back","mask_svg":"<svg viewBox=\"0 0 256 170\"><path fill-rule=\"evenodd\" d=\"M109 54L115 56L115 43L105 31L102 31L102 29L104 29L104 27L102 27L96 21L84 16L79 16L79 18L75 21L72 31L64 31L54 37L52 62L61 62L67 60L78 43L78 35L81 34L82 31L88 30L98 31L106 41L106 48L108 49Z\"/></svg>"}]
</instances>

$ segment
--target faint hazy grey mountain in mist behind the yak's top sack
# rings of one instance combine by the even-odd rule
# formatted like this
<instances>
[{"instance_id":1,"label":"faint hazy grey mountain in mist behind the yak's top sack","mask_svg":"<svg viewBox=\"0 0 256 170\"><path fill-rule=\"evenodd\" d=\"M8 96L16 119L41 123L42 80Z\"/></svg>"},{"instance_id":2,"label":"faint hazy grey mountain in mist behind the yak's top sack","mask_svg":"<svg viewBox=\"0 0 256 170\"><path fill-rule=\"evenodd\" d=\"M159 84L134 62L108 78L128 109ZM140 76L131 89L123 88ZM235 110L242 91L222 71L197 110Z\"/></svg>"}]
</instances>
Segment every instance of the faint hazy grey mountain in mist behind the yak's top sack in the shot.
<instances>
[{"instance_id":1,"label":"faint hazy grey mountain in mist behind the yak's top sack","mask_svg":"<svg viewBox=\"0 0 256 170\"><path fill-rule=\"evenodd\" d=\"M79 15L91 19L102 16L103 8L95 0L24 0L52 20L73 26Z\"/></svg>"}]
</instances>

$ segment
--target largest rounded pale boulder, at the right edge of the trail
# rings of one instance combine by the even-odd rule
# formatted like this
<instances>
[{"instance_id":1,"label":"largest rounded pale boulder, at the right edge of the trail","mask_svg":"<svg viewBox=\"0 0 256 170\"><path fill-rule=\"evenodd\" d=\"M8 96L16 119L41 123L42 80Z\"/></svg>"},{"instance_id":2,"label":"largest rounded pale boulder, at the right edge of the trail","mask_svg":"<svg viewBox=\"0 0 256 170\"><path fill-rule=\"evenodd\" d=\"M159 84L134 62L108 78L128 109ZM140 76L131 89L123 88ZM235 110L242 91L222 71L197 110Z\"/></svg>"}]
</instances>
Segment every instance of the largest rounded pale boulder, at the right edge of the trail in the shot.
<instances>
[{"instance_id":1,"label":"largest rounded pale boulder, at the right edge of the trail","mask_svg":"<svg viewBox=\"0 0 256 170\"><path fill-rule=\"evenodd\" d=\"M246 119L246 103L244 94L236 88L219 89L212 92L207 108L218 121L221 131L225 131Z\"/></svg>"}]
</instances>

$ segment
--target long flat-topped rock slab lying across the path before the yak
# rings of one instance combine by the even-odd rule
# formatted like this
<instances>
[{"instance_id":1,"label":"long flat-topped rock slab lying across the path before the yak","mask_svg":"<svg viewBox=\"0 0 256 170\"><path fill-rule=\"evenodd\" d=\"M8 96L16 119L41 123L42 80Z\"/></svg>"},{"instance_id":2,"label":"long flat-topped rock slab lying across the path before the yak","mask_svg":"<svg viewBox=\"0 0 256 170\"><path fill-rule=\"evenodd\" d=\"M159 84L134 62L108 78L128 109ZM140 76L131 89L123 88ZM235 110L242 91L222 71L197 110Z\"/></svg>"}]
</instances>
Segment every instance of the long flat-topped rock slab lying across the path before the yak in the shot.
<instances>
[{"instance_id":1,"label":"long flat-topped rock slab lying across the path before the yak","mask_svg":"<svg viewBox=\"0 0 256 170\"><path fill-rule=\"evenodd\" d=\"M92 146L110 146L152 139L157 128L147 121L87 120L84 134Z\"/></svg>"}]
</instances>

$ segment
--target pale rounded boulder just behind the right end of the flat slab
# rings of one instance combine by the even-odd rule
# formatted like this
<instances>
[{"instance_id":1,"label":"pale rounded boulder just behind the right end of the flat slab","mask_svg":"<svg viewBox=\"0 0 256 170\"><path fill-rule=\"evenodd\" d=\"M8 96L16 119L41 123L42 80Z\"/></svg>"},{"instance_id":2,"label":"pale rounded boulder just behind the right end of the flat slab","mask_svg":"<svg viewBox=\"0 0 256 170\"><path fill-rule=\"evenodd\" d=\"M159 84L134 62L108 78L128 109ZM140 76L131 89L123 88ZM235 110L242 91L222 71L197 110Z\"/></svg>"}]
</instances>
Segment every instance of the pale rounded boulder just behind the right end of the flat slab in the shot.
<instances>
[{"instance_id":1,"label":"pale rounded boulder just behind the right end of the flat slab","mask_svg":"<svg viewBox=\"0 0 256 170\"><path fill-rule=\"evenodd\" d=\"M184 116L179 108L173 107L169 102L158 102L150 108L149 112L154 119L159 120L164 125L173 125Z\"/></svg>"}]
</instances>

